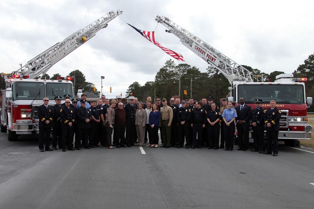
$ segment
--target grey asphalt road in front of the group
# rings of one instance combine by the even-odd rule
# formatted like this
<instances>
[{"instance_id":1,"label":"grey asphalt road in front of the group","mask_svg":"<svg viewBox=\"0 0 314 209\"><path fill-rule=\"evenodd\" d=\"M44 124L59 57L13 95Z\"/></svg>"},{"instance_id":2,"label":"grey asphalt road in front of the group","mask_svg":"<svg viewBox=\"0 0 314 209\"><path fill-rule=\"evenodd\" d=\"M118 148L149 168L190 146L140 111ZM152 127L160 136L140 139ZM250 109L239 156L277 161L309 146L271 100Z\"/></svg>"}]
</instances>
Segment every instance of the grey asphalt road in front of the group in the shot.
<instances>
[{"instance_id":1,"label":"grey asphalt road in front of the group","mask_svg":"<svg viewBox=\"0 0 314 209\"><path fill-rule=\"evenodd\" d=\"M0 208L314 208L314 150L39 152L0 133ZM237 146L236 146L237 148ZM306 151L303 151L306 150Z\"/></svg>"}]
</instances>

